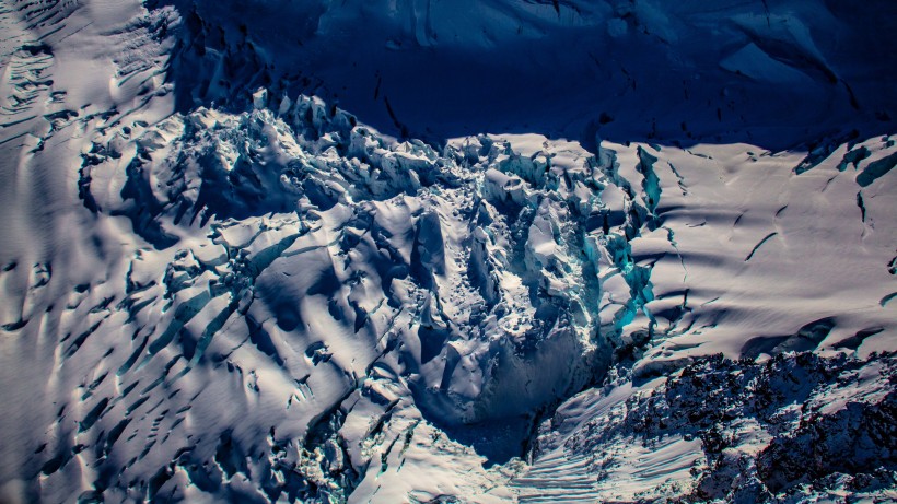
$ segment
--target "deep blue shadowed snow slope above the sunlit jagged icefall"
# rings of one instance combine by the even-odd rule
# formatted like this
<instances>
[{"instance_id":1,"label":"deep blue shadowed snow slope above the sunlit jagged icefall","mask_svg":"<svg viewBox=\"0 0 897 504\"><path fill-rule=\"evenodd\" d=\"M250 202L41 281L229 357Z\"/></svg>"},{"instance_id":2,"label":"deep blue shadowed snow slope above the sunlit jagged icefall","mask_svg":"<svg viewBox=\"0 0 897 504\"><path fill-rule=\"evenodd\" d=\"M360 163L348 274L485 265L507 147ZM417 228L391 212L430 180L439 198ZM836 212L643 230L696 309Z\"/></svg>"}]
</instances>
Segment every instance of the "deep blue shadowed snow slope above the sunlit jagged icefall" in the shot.
<instances>
[{"instance_id":1,"label":"deep blue shadowed snow slope above the sunlit jagged icefall","mask_svg":"<svg viewBox=\"0 0 897 504\"><path fill-rule=\"evenodd\" d=\"M788 149L897 120L888 0L161 0L178 104L266 86L381 131ZM438 118L438 120L434 120ZM885 130L887 128L884 128Z\"/></svg>"}]
</instances>

